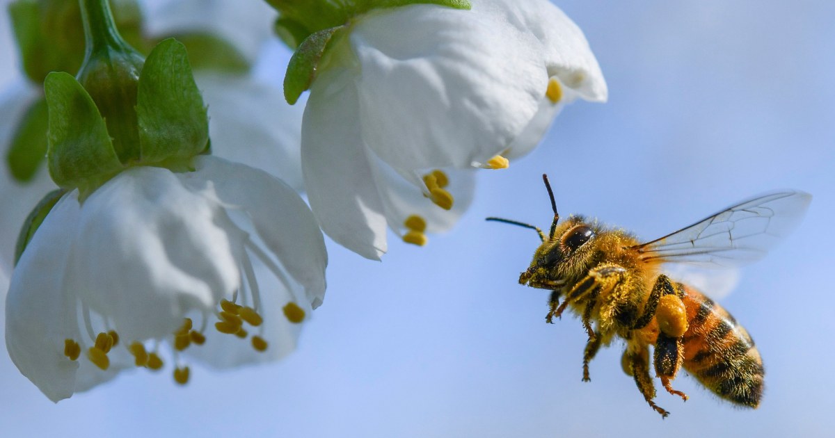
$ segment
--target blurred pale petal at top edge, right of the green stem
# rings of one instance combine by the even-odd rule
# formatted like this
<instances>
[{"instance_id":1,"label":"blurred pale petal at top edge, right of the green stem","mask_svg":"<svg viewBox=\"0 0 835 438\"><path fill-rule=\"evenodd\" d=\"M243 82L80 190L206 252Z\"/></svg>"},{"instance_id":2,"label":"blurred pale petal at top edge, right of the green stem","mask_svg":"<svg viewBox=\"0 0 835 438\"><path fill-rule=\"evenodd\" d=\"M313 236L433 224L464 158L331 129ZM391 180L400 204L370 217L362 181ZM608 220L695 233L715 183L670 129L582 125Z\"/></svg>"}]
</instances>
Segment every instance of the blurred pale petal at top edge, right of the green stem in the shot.
<instances>
[{"instance_id":1,"label":"blurred pale petal at top edge, right of the green stem","mask_svg":"<svg viewBox=\"0 0 835 438\"><path fill-rule=\"evenodd\" d=\"M224 38L247 59L256 58L271 36L276 11L264 2L240 0L145 0L148 33L166 37L212 33Z\"/></svg>"}]
</instances>

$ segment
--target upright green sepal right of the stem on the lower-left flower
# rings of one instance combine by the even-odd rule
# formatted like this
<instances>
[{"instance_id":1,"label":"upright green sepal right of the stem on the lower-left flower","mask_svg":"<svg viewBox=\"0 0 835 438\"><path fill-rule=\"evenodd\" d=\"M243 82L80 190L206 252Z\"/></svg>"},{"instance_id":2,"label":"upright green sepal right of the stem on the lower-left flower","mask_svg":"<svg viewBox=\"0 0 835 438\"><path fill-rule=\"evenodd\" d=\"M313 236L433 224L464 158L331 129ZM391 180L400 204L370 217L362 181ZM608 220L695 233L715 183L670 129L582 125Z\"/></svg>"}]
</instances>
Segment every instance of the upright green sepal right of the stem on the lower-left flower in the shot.
<instances>
[{"instance_id":1,"label":"upright green sepal right of the stem on the lower-left flower","mask_svg":"<svg viewBox=\"0 0 835 438\"><path fill-rule=\"evenodd\" d=\"M190 159L209 141L209 117L185 46L169 38L145 60L136 113L142 162Z\"/></svg>"}]
</instances>

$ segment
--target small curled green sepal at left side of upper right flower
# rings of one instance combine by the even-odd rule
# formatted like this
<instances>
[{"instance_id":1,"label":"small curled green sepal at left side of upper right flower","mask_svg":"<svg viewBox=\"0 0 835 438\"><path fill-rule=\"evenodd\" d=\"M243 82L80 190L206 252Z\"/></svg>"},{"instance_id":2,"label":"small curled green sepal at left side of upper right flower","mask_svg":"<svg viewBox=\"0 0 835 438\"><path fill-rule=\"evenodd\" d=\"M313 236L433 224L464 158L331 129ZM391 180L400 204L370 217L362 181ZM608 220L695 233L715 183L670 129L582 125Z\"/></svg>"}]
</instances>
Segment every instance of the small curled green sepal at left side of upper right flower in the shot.
<instances>
[{"instance_id":1,"label":"small curled green sepal at left side of upper right flower","mask_svg":"<svg viewBox=\"0 0 835 438\"><path fill-rule=\"evenodd\" d=\"M290 58L284 76L284 98L287 103L296 103L301 93L311 88L311 83L316 78L316 67L325 54L327 44L338 32L344 32L345 29L344 26L339 26L321 30L301 42L296 53Z\"/></svg>"}]
</instances>

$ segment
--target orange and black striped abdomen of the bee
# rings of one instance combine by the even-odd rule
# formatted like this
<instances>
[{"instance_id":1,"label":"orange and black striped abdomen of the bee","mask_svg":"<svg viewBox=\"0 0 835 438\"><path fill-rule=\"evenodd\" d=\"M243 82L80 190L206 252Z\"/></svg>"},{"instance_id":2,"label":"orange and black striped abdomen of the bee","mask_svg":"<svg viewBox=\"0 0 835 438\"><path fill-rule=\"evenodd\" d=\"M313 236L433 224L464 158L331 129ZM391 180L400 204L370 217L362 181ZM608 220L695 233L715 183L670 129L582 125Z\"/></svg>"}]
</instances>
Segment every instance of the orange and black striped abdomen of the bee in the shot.
<instances>
[{"instance_id":1,"label":"orange and black striped abdomen of the bee","mask_svg":"<svg viewBox=\"0 0 835 438\"><path fill-rule=\"evenodd\" d=\"M689 322L683 338L685 370L721 398L756 408L764 370L751 335L713 300L684 289Z\"/></svg>"}]
</instances>

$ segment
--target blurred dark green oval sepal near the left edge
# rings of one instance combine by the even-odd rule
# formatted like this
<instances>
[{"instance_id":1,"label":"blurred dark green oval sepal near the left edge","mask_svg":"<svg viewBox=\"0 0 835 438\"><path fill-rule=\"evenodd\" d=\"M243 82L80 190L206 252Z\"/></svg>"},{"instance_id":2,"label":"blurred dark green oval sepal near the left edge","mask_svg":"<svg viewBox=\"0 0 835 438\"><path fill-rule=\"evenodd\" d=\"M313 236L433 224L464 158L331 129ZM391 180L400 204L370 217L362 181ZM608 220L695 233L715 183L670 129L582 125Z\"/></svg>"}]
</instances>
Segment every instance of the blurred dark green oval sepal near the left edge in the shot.
<instances>
[{"instance_id":1,"label":"blurred dark green oval sepal near the left edge","mask_svg":"<svg viewBox=\"0 0 835 438\"><path fill-rule=\"evenodd\" d=\"M32 180L47 156L48 120L47 101L38 98L15 128L6 162L12 177L21 183Z\"/></svg>"}]
</instances>

